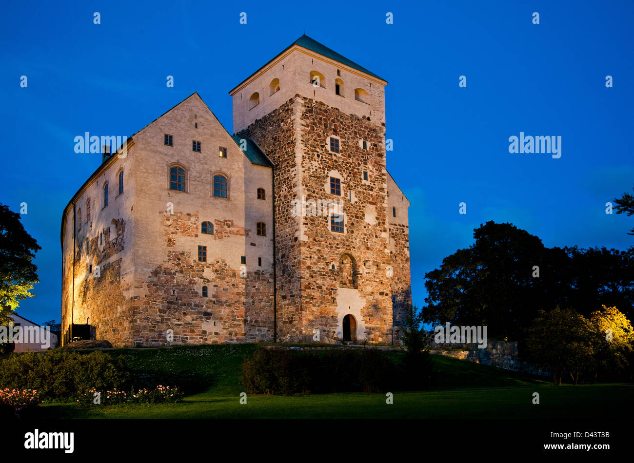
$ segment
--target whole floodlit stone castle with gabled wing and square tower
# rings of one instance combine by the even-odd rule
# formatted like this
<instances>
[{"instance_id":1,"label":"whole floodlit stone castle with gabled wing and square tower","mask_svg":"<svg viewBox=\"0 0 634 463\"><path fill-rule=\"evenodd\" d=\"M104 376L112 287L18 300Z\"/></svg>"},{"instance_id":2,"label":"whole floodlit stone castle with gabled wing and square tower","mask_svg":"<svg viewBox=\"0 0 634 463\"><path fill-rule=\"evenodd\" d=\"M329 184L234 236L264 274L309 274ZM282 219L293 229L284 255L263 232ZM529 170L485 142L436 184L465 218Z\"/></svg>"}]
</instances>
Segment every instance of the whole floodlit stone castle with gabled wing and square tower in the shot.
<instances>
[{"instance_id":1,"label":"whole floodlit stone castle with gabled wing and square tower","mask_svg":"<svg viewBox=\"0 0 634 463\"><path fill-rule=\"evenodd\" d=\"M104 150L61 219L64 343L394 342L410 203L386 84L302 35L230 91L233 135L194 93Z\"/></svg>"}]
</instances>

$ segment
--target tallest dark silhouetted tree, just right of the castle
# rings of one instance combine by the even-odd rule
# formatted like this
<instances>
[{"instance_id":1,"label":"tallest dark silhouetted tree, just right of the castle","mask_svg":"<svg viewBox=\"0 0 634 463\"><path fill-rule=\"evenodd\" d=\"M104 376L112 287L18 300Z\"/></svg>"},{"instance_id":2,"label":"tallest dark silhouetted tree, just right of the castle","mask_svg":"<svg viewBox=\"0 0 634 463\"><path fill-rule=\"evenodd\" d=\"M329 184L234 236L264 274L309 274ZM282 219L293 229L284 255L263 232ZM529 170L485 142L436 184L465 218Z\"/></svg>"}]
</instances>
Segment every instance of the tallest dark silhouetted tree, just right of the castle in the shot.
<instances>
[{"instance_id":1,"label":"tallest dark silhouetted tree, just right of the castle","mask_svg":"<svg viewBox=\"0 0 634 463\"><path fill-rule=\"evenodd\" d=\"M569 258L559 248L512 224L493 221L474 230L475 243L425 274L430 324L486 325L489 336L518 339L540 309L564 301ZM534 266L539 277L534 277Z\"/></svg>"}]
</instances>

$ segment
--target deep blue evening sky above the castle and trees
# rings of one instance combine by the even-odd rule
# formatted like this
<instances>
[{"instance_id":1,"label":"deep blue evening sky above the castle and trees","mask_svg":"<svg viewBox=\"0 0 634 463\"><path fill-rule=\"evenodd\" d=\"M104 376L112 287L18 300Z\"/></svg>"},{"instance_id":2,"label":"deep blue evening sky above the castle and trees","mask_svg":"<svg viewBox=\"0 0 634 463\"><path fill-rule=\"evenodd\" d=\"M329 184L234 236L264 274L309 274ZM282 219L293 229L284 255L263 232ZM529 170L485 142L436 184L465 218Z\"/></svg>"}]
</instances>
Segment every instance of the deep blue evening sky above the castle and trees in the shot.
<instances>
[{"instance_id":1,"label":"deep blue evening sky above the castle and trees","mask_svg":"<svg viewBox=\"0 0 634 463\"><path fill-rule=\"evenodd\" d=\"M22 222L42 246L36 297L18 312L60 319L61 212L101 162L75 154L75 136L131 135L194 91L231 131L228 91L303 28L389 81L387 166L411 201L418 305L425 272L487 220L546 246L634 244L634 217L604 212L634 186L634 2L418 3L5 2L0 202L28 204ZM561 158L508 153L520 131L562 136Z\"/></svg>"}]
</instances>

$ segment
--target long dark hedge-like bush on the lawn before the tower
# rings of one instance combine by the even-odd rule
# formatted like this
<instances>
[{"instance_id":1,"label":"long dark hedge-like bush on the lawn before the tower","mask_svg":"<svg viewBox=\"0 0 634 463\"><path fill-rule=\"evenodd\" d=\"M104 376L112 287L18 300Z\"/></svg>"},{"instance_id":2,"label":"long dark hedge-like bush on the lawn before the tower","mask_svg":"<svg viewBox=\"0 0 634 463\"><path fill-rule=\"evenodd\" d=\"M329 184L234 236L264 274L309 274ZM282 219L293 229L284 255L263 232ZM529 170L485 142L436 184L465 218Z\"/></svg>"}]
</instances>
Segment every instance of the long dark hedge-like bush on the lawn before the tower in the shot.
<instances>
[{"instance_id":1,"label":"long dark hedge-like bush on the lawn before the tower","mask_svg":"<svg viewBox=\"0 0 634 463\"><path fill-rule=\"evenodd\" d=\"M393 390L398 365L374 349L290 352L258 349L242 364L248 393L293 394Z\"/></svg>"}]
</instances>

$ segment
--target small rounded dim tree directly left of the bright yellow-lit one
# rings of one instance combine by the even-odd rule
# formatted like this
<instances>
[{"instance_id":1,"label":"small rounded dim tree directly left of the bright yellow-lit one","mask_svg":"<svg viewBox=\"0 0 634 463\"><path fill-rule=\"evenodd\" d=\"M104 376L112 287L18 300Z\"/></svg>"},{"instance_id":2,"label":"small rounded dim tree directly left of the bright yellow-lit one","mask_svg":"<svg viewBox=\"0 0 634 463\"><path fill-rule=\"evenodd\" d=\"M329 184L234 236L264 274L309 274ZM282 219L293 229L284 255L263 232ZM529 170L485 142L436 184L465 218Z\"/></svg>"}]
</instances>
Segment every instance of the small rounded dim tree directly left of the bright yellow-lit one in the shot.
<instances>
[{"instance_id":1,"label":"small rounded dim tree directly left of the bright yellow-lit one","mask_svg":"<svg viewBox=\"0 0 634 463\"><path fill-rule=\"evenodd\" d=\"M583 315L571 308L541 311L528 330L526 339L529 359L550 369L553 384L558 386L564 374L574 384L579 374L592 369L595 361L596 331Z\"/></svg>"}]
</instances>

